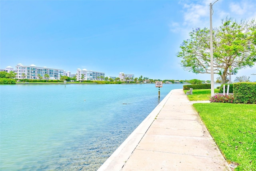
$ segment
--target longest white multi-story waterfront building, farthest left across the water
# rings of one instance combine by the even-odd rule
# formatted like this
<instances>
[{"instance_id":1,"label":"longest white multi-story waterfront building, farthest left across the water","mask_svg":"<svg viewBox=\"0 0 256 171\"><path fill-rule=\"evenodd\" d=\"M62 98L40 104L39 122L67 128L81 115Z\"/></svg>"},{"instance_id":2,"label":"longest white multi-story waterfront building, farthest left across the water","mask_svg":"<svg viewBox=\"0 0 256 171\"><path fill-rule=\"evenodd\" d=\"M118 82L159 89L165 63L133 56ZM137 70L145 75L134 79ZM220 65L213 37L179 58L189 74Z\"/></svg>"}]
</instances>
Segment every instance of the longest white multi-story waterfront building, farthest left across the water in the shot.
<instances>
[{"instance_id":1,"label":"longest white multi-story waterfront building, farthest left across the water","mask_svg":"<svg viewBox=\"0 0 256 171\"><path fill-rule=\"evenodd\" d=\"M60 76L65 75L64 70L47 67L38 67L34 64L30 66L17 64L17 66L15 67L15 72L17 73L16 78L18 79L22 79L24 78L24 76L26 79L39 79L39 76L44 77L45 74L48 74L50 76L50 80L60 80Z\"/></svg>"}]
</instances>

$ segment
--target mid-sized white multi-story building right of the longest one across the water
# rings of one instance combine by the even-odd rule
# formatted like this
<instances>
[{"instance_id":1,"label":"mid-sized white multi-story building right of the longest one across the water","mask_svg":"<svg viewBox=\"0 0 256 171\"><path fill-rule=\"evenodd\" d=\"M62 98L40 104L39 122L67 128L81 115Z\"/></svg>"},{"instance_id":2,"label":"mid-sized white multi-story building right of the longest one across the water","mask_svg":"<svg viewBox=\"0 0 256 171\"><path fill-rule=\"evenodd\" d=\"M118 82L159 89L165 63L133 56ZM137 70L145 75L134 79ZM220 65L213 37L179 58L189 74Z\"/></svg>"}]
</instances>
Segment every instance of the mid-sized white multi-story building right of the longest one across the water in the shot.
<instances>
[{"instance_id":1,"label":"mid-sized white multi-story building right of the longest one across the water","mask_svg":"<svg viewBox=\"0 0 256 171\"><path fill-rule=\"evenodd\" d=\"M86 69L81 70L78 68L76 70L76 80L82 81L82 80L102 80L102 78L105 78L104 72L97 72L97 71L88 71ZM84 78L82 79L82 74Z\"/></svg>"}]
</instances>

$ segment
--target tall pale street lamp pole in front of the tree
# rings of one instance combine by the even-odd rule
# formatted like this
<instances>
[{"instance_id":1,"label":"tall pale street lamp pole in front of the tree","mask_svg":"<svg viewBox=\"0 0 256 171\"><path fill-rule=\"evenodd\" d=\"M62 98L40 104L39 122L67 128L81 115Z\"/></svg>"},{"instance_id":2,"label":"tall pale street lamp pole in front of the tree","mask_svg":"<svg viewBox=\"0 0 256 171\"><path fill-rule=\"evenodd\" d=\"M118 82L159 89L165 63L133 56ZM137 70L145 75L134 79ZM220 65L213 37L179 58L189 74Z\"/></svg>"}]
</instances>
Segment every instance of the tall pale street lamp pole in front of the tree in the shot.
<instances>
[{"instance_id":1,"label":"tall pale street lamp pole in front of the tree","mask_svg":"<svg viewBox=\"0 0 256 171\"><path fill-rule=\"evenodd\" d=\"M217 2L216 0L215 2ZM214 3L215 3L214 2ZM213 4L214 4L213 3ZM210 64L211 64L211 96L214 96L214 76L213 76L213 48L212 48L212 3L210 3Z\"/></svg>"}]
</instances>

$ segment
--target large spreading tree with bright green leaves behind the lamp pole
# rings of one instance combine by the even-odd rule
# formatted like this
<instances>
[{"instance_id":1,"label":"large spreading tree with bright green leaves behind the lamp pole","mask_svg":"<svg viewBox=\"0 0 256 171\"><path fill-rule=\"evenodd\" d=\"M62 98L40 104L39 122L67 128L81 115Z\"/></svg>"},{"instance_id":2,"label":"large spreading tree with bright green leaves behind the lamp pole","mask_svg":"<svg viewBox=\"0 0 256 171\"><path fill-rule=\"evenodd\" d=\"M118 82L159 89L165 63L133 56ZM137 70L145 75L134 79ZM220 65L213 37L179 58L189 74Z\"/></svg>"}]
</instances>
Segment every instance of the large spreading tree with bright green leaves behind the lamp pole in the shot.
<instances>
[{"instance_id":1,"label":"large spreading tree with bright green leaves behind the lamp pole","mask_svg":"<svg viewBox=\"0 0 256 171\"><path fill-rule=\"evenodd\" d=\"M210 30L196 28L184 40L176 54L182 58L184 70L210 74ZM229 75L242 68L252 67L256 62L256 22L233 18L222 20L222 26L213 29L213 67L222 83Z\"/></svg>"}]
</instances>

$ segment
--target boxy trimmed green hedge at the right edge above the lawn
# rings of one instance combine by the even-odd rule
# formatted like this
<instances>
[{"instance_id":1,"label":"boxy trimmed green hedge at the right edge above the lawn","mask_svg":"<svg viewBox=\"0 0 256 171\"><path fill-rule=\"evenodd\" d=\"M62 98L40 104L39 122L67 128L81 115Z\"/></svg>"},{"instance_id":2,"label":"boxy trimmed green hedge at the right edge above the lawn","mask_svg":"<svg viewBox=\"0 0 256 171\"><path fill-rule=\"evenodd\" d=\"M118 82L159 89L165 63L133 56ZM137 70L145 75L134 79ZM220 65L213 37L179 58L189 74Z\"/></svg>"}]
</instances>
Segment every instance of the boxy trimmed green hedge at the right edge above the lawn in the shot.
<instances>
[{"instance_id":1,"label":"boxy trimmed green hedge at the right edge above the lawn","mask_svg":"<svg viewBox=\"0 0 256 171\"><path fill-rule=\"evenodd\" d=\"M235 83L234 102L256 104L256 83Z\"/></svg>"}]
</instances>

